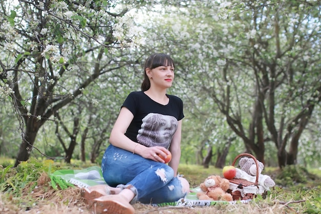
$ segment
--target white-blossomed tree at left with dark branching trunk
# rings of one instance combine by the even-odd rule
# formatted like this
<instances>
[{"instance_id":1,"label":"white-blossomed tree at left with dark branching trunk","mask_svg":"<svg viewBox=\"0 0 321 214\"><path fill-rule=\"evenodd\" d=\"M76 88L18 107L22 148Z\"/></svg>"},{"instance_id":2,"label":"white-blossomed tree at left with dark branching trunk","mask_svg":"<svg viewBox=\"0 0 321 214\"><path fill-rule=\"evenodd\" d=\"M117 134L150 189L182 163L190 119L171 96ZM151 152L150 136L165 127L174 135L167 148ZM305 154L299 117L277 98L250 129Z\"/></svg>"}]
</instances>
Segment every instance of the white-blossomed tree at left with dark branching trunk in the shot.
<instances>
[{"instance_id":1,"label":"white-blossomed tree at left with dark branching trunk","mask_svg":"<svg viewBox=\"0 0 321 214\"><path fill-rule=\"evenodd\" d=\"M22 123L15 165L29 158L40 127L81 100L100 76L132 65L140 45L129 10L136 1L2 1L0 96ZM97 100L85 100L93 105Z\"/></svg>"}]
</instances>

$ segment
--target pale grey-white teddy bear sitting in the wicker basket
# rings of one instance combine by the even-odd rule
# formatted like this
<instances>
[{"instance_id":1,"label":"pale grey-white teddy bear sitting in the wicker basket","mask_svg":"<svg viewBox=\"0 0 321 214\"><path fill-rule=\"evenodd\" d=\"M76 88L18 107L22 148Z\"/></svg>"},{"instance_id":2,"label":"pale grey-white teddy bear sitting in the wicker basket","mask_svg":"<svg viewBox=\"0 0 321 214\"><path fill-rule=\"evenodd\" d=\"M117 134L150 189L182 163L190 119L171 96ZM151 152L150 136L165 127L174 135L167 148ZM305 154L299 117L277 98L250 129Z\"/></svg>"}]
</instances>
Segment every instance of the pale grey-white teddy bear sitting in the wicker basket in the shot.
<instances>
[{"instance_id":1,"label":"pale grey-white teddy bear sitting in the wicker basket","mask_svg":"<svg viewBox=\"0 0 321 214\"><path fill-rule=\"evenodd\" d=\"M263 186L266 190L269 190L269 187L273 187L275 182L268 175L262 175L264 169L264 164L260 161L258 163L258 185ZM239 160L239 168L236 168L236 179L245 179L247 181L255 183L256 181L256 164L252 158L243 157Z\"/></svg>"}]
</instances>

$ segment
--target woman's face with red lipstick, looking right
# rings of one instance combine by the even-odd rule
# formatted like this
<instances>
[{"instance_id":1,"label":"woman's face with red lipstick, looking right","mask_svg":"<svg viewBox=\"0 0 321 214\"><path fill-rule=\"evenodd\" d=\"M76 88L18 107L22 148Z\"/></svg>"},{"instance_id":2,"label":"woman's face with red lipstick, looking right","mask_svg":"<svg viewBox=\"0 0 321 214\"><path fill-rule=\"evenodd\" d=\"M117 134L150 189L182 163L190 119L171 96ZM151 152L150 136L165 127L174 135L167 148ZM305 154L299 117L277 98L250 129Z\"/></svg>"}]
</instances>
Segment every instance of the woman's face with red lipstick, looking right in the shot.
<instances>
[{"instance_id":1,"label":"woman's face with red lipstick, looking right","mask_svg":"<svg viewBox=\"0 0 321 214\"><path fill-rule=\"evenodd\" d=\"M170 88L174 80L173 66L159 66L154 69L146 69L146 73L152 82L160 88Z\"/></svg>"}]
</instances>

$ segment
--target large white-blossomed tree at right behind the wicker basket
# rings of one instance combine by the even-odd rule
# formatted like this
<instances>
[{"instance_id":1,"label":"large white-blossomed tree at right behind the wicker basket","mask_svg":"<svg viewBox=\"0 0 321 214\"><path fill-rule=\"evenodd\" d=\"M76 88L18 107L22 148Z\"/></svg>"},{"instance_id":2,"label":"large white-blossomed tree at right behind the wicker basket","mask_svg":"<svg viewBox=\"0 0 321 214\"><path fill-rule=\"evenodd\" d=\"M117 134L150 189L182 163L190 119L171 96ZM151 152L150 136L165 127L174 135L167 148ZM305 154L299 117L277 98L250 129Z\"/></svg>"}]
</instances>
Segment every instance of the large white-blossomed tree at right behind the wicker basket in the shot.
<instances>
[{"instance_id":1,"label":"large white-blossomed tree at right behind the wicker basket","mask_svg":"<svg viewBox=\"0 0 321 214\"><path fill-rule=\"evenodd\" d=\"M319 6L318 1L191 1L162 19L166 37L153 34L157 39L148 40L176 56L178 75L190 87L185 98L193 100L191 113L216 117L218 108L244 142L239 152L245 148L264 162L265 146L272 142L283 167L297 162L299 142L320 102ZM220 124L212 134L215 128Z\"/></svg>"}]
</instances>

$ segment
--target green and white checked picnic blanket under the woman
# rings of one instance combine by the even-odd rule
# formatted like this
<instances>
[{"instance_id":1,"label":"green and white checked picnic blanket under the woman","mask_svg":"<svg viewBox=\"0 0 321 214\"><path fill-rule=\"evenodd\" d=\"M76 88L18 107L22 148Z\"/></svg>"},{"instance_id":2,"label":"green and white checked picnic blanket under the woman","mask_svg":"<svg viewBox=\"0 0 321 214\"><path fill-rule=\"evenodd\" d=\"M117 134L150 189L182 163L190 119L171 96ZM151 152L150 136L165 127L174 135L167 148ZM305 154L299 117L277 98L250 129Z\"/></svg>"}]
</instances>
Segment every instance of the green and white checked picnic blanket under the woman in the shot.
<instances>
[{"instance_id":1,"label":"green and white checked picnic blanket under the woman","mask_svg":"<svg viewBox=\"0 0 321 214\"><path fill-rule=\"evenodd\" d=\"M89 186L94 186L98 184L106 184L102 170L98 166L90 166L85 169L60 169L56 170L50 175L52 182L57 183L62 188L68 187L70 184L84 188ZM62 182L63 181L63 182ZM64 182L66 182L64 184ZM162 204L152 204L153 206L212 206L215 204L235 204L237 201L208 201L208 200L198 200L196 194L201 191L199 187L192 188L185 198L179 199L176 202L162 203ZM248 203L249 200L240 200L240 203Z\"/></svg>"}]
</instances>

